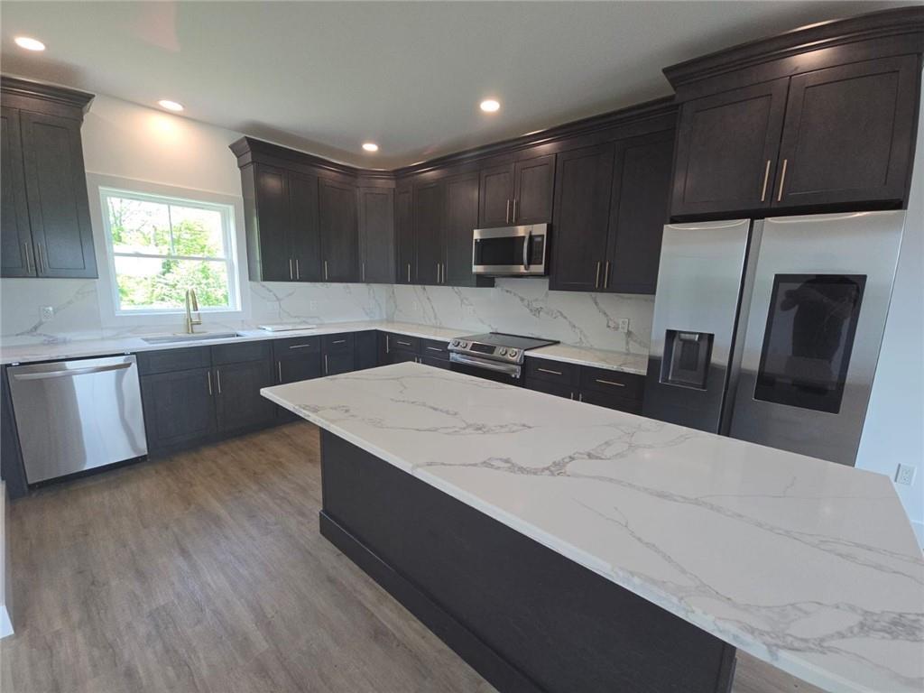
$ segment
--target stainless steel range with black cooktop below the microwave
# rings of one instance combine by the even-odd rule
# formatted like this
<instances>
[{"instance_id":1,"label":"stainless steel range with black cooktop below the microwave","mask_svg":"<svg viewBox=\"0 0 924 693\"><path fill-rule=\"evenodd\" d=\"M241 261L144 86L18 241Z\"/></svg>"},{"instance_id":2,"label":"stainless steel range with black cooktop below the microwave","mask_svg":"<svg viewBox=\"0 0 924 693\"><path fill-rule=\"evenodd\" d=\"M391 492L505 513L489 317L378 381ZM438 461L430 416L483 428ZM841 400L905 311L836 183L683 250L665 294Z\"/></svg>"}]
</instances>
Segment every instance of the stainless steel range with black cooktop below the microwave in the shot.
<instances>
[{"instance_id":1,"label":"stainless steel range with black cooktop below the microwave","mask_svg":"<svg viewBox=\"0 0 924 693\"><path fill-rule=\"evenodd\" d=\"M449 361L453 371L519 384L525 352L552 344L558 342L502 332L469 334L449 343Z\"/></svg>"}]
</instances>

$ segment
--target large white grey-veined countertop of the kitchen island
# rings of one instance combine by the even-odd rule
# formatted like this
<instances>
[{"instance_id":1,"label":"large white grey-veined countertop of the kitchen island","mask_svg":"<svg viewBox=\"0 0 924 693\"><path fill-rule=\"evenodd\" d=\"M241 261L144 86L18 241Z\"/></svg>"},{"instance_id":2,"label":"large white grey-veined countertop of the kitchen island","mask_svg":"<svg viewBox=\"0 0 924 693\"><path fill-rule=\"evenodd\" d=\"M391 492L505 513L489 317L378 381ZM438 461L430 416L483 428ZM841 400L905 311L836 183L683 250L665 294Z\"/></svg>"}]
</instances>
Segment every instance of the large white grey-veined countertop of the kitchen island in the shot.
<instances>
[{"instance_id":1,"label":"large white grey-veined countertop of the kitchen island","mask_svg":"<svg viewBox=\"0 0 924 693\"><path fill-rule=\"evenodd\" d=\"M416 363L262 394L816 686L924 688L884 476Z\"/></svg>"}]
</instances>

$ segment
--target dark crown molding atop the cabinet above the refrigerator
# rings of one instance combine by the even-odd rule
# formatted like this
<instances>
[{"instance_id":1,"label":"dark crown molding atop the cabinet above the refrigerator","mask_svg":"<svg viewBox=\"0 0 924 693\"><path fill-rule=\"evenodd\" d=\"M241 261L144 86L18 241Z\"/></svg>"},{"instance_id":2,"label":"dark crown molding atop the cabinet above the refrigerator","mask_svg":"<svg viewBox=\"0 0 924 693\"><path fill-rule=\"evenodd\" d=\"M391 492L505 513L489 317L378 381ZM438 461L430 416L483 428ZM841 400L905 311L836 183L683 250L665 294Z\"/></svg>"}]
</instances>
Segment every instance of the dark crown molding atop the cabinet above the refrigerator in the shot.
<instances>
[{"instance_id":1,"label":"dark crown molding atop the cabinet above the refrigerator","mask_svg":"<svg viewBox=\"0 0 924 693\"><path fill-rule=\"evenodd\" d=\"M848 43L899 37L906 37L917 45L917 53L924 51L924 7L899 7L810 24L664 67L663 73L675 91L682 92L684 87L694 82L748 67L757 67L792 55L821 51Z\"/></svg>"}]
</instances>

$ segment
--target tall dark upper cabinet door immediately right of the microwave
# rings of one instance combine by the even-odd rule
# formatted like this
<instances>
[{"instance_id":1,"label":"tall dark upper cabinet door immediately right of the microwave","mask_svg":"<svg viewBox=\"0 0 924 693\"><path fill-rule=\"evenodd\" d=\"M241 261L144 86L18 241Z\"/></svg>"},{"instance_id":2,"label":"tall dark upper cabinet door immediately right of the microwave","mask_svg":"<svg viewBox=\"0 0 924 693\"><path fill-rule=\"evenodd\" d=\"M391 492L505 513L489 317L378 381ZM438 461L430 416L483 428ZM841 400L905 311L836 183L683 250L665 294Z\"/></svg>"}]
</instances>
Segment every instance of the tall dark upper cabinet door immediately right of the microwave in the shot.
<instances>
[{"instance_id":1,"label":"tall dark upper cabinet door immediately right of the microwave","mask_svg":"<svg viewBox=\"0 0 924 693\"><path fill-rule=\"evenodd\" d=\"M559 291L602 288L613 186L613 145L558 154L552 279Z\"/></svg>"}]
</instances>

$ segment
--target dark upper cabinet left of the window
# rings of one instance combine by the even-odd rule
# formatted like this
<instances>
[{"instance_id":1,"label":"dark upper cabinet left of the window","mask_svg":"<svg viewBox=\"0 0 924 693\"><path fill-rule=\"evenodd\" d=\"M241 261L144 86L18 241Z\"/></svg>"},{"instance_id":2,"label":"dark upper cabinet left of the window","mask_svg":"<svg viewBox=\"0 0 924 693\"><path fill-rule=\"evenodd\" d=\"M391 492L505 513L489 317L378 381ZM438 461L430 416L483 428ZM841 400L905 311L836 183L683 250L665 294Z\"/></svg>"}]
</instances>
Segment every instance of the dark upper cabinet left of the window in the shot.
<instances>
[{"instance_id":1,"label":"dark upper cabinet left of the window","mask_svg":"<svg viewBox=\"0 0 924 693\"><path fill-rule=\"evenodd\" d=\"M80 125L92 95L0 80L0 276L95 278Z\"/></svg>"}]
</instances>

